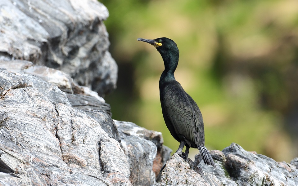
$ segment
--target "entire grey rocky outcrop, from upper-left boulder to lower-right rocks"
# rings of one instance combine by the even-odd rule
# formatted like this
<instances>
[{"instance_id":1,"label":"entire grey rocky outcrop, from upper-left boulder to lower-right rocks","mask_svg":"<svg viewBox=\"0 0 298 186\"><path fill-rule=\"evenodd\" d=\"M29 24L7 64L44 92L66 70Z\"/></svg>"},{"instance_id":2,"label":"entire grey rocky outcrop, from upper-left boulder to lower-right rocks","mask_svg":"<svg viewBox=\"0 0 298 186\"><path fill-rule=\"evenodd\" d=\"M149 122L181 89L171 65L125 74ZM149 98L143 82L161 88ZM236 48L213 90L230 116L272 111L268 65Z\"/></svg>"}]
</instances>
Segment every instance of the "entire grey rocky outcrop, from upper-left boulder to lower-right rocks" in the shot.
<instances>
[{"instance_id":1,"label":"entire grey rocky outcrop, from upper-left boulder to lower-right rocks","mask_svg":"<svg viewBox=\"0 0 298 186\"><path fill-rule=\"evenodd\" d=\"M21 177L0 185L298 185L297 158L231 144L210 152L214 169L200 155L170 158L160 132L113 120L100 95L115 88L117 66L99 2L16 0L0 10L0 154Z\"/></svg>"}]
</instances>

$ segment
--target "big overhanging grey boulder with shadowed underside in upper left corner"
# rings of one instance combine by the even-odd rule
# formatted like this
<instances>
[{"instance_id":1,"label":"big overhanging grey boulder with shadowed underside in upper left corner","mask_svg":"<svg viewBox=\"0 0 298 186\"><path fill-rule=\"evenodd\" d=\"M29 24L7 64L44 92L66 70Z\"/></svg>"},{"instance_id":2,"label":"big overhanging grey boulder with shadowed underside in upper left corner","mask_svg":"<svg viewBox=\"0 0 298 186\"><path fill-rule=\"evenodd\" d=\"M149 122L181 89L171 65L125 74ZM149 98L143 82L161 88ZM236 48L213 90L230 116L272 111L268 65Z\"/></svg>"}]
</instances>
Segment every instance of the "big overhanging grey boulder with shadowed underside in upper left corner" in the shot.
<instances>
[{"instance_id":1,"label":"big overhanging grey boulder with shadowed underside in upper left corner","mask_svg":"<svg viewBox=\"0 0 298 186\"><path fill-rule=\"evenodd\" d=\"M116 88L118 72L103 24L108 15L96 0L2 1L0 60L61 70L104 96Z\"/></svg>"}]
</instances>

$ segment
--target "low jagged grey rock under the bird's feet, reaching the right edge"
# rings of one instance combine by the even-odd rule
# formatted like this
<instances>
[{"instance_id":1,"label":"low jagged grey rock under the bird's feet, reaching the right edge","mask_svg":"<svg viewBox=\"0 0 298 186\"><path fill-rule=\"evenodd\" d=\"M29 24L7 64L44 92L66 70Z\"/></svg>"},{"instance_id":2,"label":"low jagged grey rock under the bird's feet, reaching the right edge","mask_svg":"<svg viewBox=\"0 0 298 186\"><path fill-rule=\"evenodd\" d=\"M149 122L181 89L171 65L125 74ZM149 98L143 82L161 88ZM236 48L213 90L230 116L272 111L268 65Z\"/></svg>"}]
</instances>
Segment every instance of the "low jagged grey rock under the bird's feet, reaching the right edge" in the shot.
<instances>
[{"instance_id":1,"label":"low jagged grey rock under the bird's feet, reaching the right edge","mask_svg":"<svg viewBox=\"0 0 298 186\"><path fill-rule=\"evenodd\" d=\"M210 154L216 169L206 166L200 155L192 162L174 154L165 166L160 185L298 185L297 158L291 163L275 162L235 143L223 151L210 151Z\"/></svg>"}]
</instances>

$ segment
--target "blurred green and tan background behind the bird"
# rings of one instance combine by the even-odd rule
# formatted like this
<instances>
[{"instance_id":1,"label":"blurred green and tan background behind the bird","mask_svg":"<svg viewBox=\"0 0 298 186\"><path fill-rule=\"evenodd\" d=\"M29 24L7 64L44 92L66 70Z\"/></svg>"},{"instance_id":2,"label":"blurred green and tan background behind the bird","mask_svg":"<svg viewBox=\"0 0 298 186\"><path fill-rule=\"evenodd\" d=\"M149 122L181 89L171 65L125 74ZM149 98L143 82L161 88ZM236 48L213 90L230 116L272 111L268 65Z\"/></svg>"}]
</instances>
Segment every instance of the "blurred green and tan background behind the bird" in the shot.
<instances>
[{"instance_id":1,"label":"blurred green and tan background behind the bird","mask_svg":"<svg viewBox=\"0 0 298 186\"><path fill-rule=\"evenodd\" d=\"M113 119L160 131L177 150L160 108L163 61L137 41L167 37L178 45L175 78L201 109L209 150L235 142L276 161L298 157L298 1L100 2L119 66L117 89L105 97Z\"/></svg>"}]
</instances>

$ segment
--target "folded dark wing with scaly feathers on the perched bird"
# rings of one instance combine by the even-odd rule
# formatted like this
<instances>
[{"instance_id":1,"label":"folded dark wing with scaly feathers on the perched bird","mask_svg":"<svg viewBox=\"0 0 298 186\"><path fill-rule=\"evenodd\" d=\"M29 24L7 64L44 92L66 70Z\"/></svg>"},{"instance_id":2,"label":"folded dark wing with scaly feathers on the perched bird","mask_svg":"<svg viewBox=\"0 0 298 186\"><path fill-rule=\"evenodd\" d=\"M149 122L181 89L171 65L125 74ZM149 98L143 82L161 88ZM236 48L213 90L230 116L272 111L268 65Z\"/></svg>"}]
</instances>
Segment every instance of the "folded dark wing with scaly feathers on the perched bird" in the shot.
<instances>
[{"instance_id":1,"label":"folded dark wing with scaly feathers on the perched bird","mask_svg":"<svg viewBox=\"0 0 298 186\"><path fill-rule=\"evenodd\" d=\"M183 135L190 143L204 144L204 124L196 102L183 90L181 85L168 85L163 97L164 107L175 132ZM194 146L196 147L196 146Z\"/></svg>"}]
</instances>

